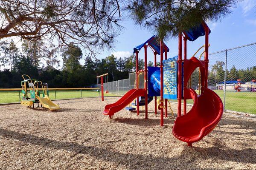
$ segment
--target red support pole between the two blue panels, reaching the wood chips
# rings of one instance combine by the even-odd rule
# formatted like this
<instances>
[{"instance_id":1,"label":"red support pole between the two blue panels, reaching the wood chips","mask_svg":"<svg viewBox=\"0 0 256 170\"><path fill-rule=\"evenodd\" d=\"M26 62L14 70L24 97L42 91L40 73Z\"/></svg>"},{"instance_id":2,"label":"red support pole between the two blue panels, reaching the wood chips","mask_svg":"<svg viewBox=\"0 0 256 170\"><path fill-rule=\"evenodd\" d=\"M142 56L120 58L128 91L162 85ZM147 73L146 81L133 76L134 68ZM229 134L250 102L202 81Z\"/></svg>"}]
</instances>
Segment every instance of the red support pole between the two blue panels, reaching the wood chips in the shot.
<instances>
[{"instance_id":1,"label":"red support pole between the two blue panels, reaching the wood chips","mask_svg":"<svg viewBox=\"0 0 256 170\"><path fill-rule=\"evenodd\" d=\"M160 126L163 126L163 40L160 40L160 102L161 102L161 110L160 110Z\"/></svg>"}]
</instances>

